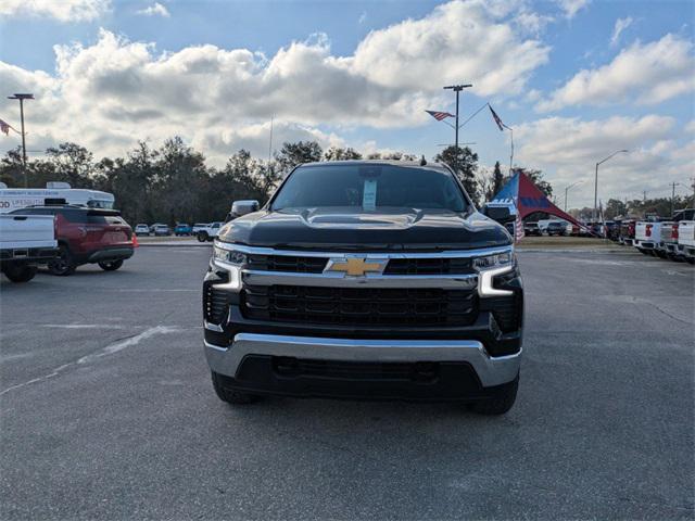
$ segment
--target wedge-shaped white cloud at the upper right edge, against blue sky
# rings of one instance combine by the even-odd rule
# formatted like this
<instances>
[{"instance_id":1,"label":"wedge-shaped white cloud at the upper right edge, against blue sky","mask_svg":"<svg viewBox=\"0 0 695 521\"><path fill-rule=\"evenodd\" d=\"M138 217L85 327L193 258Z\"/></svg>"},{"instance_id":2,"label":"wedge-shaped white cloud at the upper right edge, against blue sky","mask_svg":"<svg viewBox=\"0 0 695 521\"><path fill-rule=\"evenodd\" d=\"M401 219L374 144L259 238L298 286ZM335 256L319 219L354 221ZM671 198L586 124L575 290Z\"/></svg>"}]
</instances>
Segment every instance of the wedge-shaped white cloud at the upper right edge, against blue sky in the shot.
<instances>
[{"instance_id":1,"label":"wedge-shaped white cloud at the upper right edge, against blue sky","mask_svg":"<svg viewBox=\"0 0 695 521\"><path fill-rule=\"evenodd\" d=\"M654 104L694 89L693 42L668 34L658 41L636 42L623 49L603 67L580 71L536 109L552 111L633 100Z\"/></svg>"}]
</instances>

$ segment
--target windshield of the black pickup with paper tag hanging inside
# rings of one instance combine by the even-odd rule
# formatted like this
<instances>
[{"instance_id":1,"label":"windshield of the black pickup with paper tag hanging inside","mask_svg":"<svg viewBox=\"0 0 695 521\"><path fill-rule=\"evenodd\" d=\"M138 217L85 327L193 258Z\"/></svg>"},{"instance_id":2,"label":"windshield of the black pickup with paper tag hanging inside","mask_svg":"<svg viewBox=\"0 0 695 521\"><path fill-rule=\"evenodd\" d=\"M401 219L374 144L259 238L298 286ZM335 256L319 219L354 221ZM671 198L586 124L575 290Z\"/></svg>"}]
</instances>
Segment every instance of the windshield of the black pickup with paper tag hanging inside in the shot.
<instances>
[{"instance_id":1,"label":"windshield of the black pickup with paper tag hanging inside","mask_svg":"<svg viewBox=\"0 0 695 521\"><path fill-rule=\"evenodd\" d=\"M408 207L464 212L466 199L452 174L433 168L351 164L294 170L271 209L315 206Z\"/></svg>"}]
</instances>

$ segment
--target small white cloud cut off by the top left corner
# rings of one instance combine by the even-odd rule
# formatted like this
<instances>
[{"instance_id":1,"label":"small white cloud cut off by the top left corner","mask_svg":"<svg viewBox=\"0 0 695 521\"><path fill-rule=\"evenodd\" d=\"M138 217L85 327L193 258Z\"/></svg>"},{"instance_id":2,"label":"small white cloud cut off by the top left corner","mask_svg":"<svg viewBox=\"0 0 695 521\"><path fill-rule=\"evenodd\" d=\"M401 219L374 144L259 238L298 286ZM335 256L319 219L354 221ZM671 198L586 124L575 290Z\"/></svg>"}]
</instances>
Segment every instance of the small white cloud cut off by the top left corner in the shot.
<instances>
[{"instance_id":1,"label":"small white cloud cut off by the top left corner","mask_svg":"<svg viewBox=\"0 0 695 521\"><path fill-rule=\"evenodd\" d=\"M2 0L0 16L41 16L60 22L89 22L111 8L111 0Z\"/></svg>"}]
</instances>

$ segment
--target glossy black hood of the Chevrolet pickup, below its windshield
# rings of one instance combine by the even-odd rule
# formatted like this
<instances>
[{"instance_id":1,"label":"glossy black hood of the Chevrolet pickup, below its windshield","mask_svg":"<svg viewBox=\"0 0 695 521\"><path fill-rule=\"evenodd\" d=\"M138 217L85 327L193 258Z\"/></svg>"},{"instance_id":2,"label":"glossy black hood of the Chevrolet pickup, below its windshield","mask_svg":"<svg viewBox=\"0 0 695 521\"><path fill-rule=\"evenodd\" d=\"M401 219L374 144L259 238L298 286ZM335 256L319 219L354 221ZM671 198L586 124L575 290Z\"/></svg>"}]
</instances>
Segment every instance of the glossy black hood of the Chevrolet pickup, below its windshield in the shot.
<instances>
[{"instance_id":1,"label":"glossy black hood of the Chevrolet pickup, below its windshield","mask_svg":"<svg viewBox=\"0 0 695 521\"><path fill-rule=\"evenodd\" d=\"M504 227L478 212L354 207L255 212L227 224L219 240L328 251L469 250L511 243Z\"/></svg>"}]
</instances>

